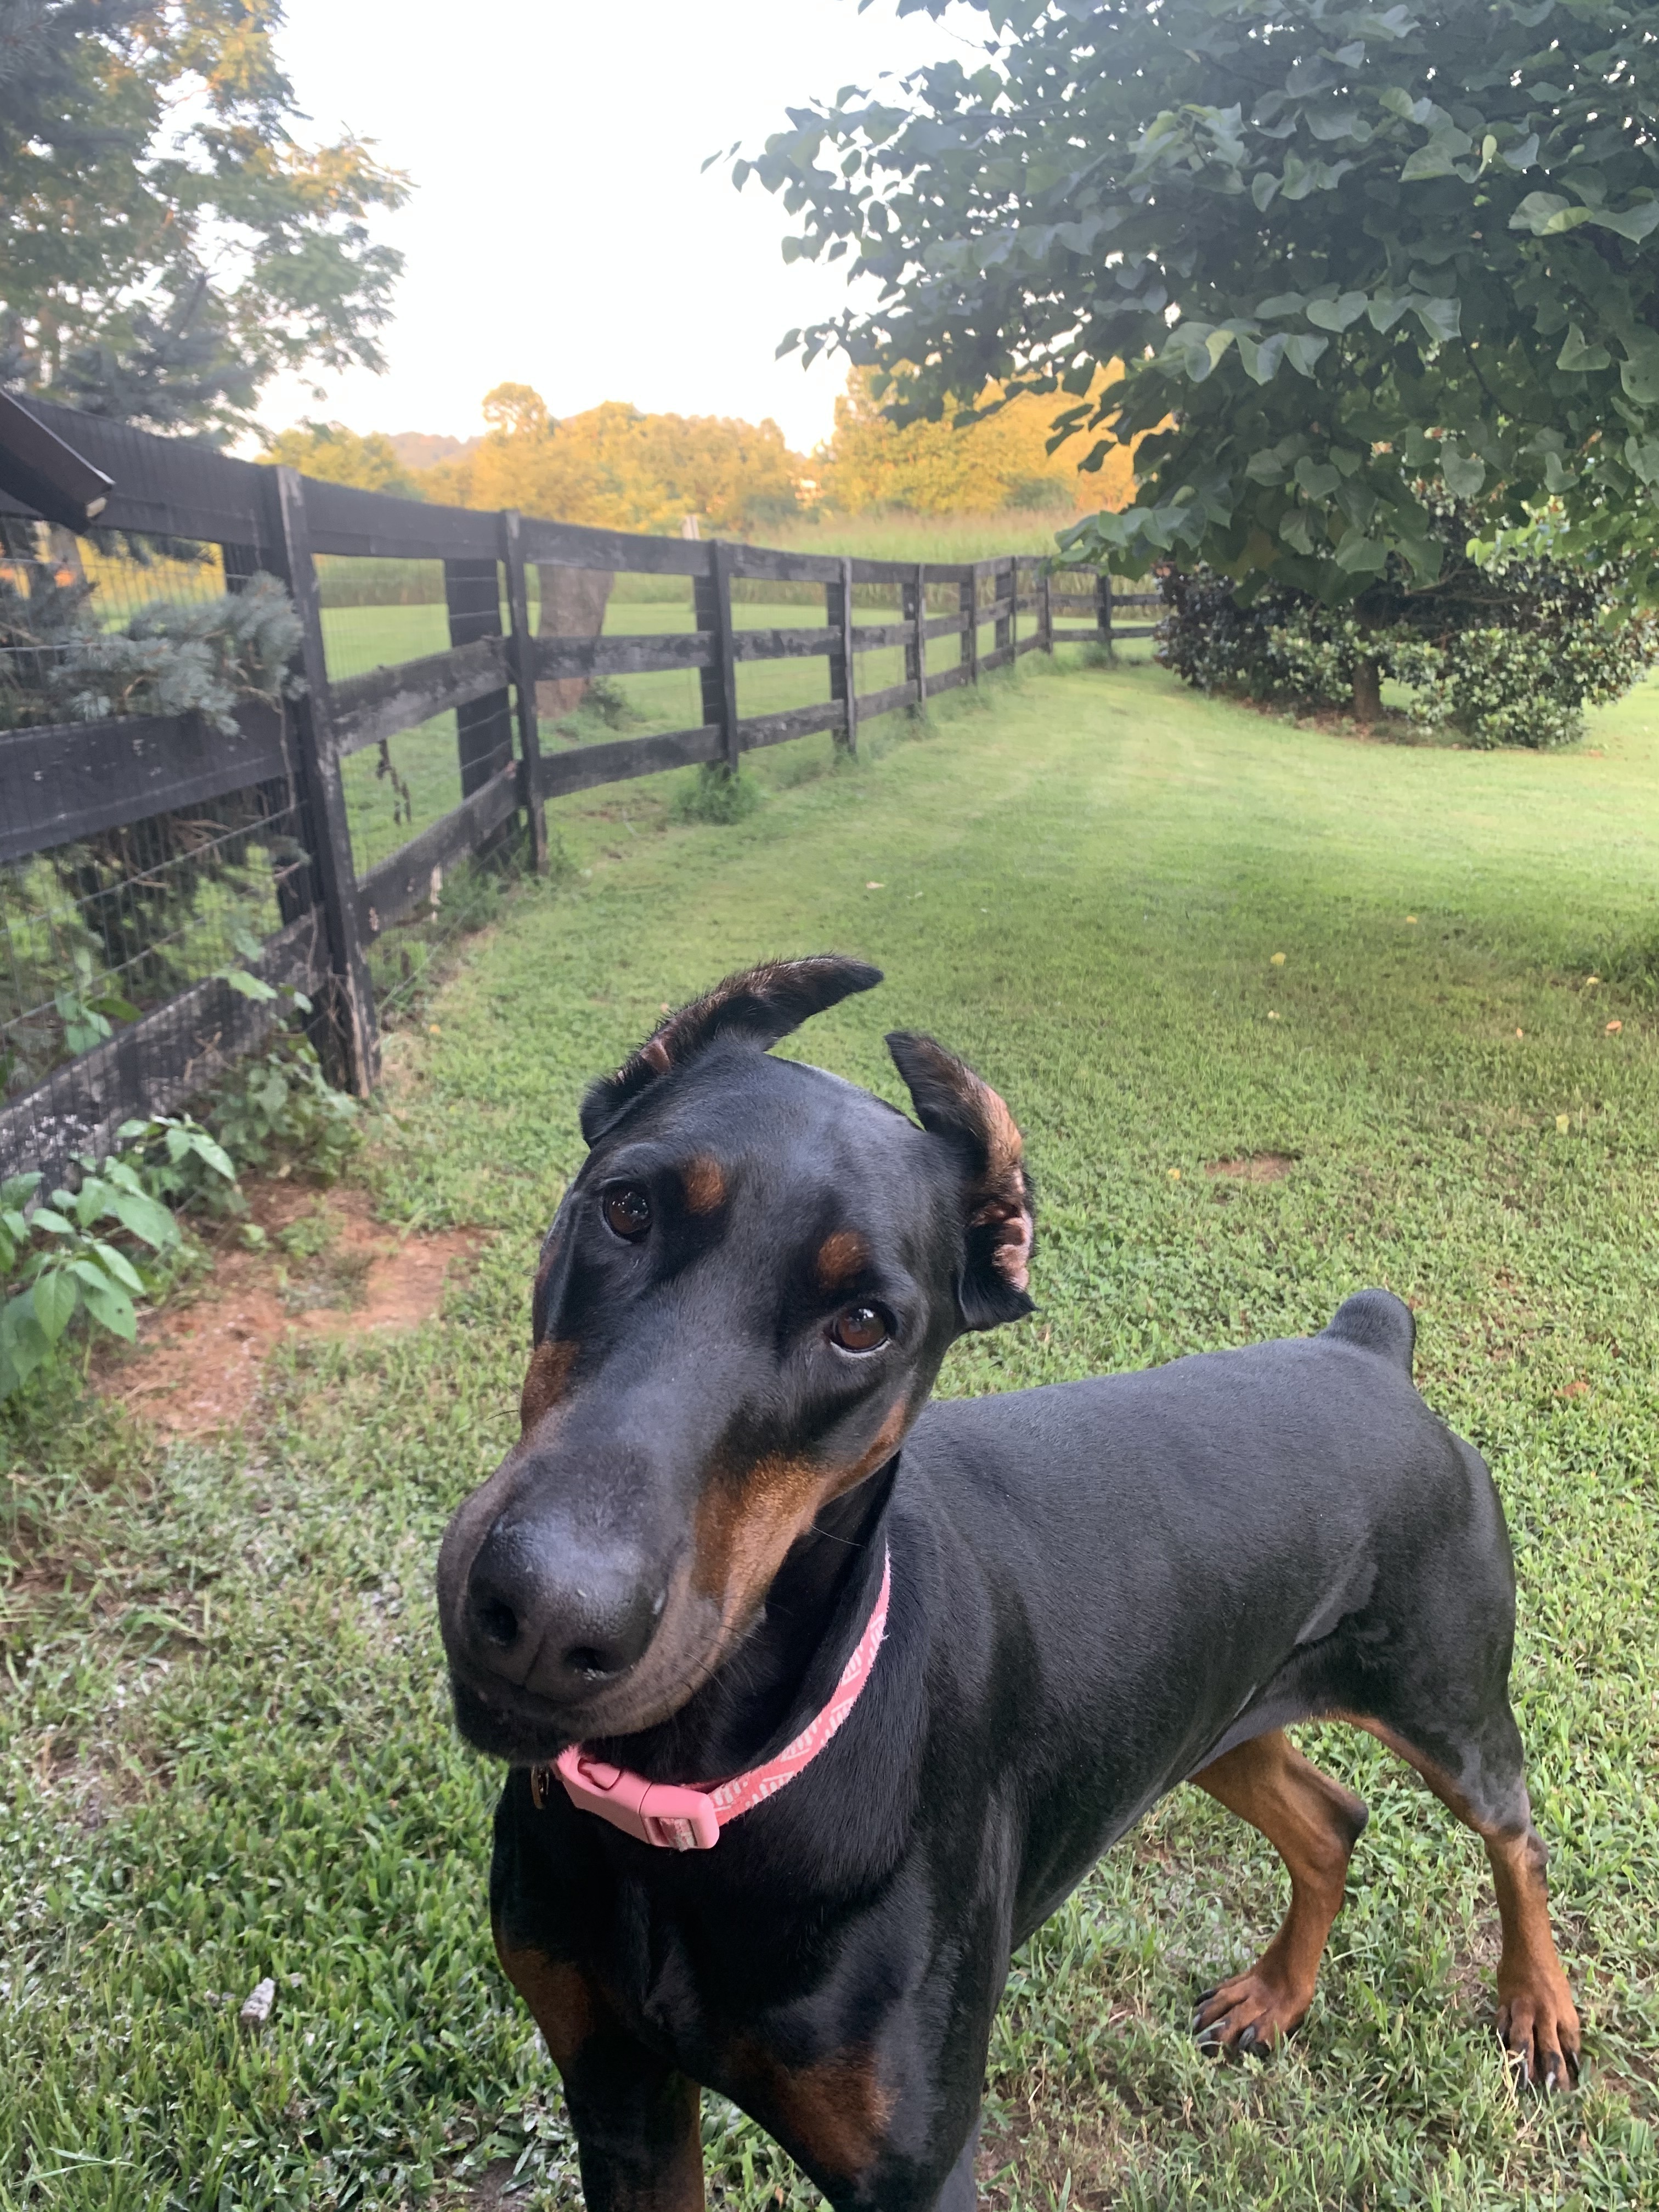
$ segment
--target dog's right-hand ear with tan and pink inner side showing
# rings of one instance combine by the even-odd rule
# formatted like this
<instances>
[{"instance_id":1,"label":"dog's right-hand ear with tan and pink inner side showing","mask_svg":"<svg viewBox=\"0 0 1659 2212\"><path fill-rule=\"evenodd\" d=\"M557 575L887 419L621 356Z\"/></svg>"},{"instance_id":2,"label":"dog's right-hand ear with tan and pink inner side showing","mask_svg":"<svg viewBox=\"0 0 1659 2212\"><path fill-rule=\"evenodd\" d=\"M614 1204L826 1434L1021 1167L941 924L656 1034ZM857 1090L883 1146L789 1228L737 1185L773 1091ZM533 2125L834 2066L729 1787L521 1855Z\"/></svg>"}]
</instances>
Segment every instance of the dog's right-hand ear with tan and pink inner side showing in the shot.
<instances>
[{"instance_id":1,"label":"dog's right-hand ear with tan and pink inner side showing","mask_svg":"<svg viewBox=\"0 0 1659 2212\"><path fill-rule=\"evenodd\" d=\"M991 1084L931 1037L898 1029L887 1040L887 1051L909 1084L916 1119L933 1137L956 1146L967 1166L962 1318L971 1329L1020 1321L1033 1310L1026 1283L1035 1217L1013 1115Z\"/></svg>"}]
</instances>

